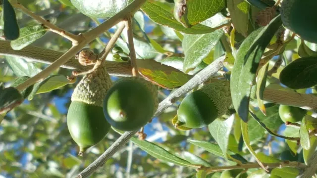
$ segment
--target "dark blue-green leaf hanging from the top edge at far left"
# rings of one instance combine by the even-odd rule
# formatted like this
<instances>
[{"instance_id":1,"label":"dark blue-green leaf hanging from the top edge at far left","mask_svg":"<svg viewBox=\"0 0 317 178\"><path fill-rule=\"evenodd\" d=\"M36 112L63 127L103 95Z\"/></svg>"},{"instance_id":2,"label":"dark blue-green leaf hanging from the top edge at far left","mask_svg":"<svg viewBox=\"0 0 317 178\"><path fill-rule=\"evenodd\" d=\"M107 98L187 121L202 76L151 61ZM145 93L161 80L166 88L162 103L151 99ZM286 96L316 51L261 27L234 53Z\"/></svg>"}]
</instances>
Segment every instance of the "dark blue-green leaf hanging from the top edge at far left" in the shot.
<instances>
[{"instance_id":1,"label":"dark blue-green leaf hanging from the top edge at far left","mask_svg":"<svg viewBox=\"0 0 317 178\"><path fill-rule=\"evenodd\" d=\"M15 11L8 0L3 0L3 31L6 40L19 38L19 25L16 20Z\"/></svg>"}]
</instances>

